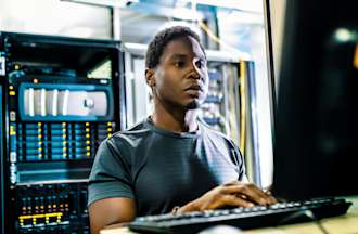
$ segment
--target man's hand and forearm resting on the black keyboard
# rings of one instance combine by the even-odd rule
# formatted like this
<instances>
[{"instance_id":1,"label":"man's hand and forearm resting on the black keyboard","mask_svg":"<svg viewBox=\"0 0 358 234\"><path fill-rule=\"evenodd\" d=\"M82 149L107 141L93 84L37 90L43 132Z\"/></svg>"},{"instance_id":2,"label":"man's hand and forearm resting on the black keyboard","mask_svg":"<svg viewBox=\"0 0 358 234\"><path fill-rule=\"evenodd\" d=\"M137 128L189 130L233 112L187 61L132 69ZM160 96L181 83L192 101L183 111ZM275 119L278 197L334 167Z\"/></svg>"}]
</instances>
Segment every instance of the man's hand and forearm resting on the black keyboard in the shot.
<instances>
[{"instance_id":1,"label":"man's hand and forearm resting on the black keyboard","mask_svg":"<svg viewBox=\"0 0 358 234\"><path fill-rule=\"evenodd\" d=\"M228 206L253 207L274 203L277 200L269 192L264 192L253 183L234 181L208 191L203 196L181 207L178 212L203 211Z\"/></svg>"}]
</instances>

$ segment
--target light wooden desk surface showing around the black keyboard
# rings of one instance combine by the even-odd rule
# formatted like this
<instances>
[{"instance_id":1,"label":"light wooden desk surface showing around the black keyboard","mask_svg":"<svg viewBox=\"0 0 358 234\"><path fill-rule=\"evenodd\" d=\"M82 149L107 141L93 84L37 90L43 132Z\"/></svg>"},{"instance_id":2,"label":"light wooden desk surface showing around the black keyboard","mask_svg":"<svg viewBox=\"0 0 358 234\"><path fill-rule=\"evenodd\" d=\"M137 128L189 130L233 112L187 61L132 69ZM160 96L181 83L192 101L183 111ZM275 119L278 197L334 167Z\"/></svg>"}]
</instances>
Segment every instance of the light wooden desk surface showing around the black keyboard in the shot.
<instances>
[{"instance_id":1,"label":"light wooden desk surface showing around the black keyboard","mask_svg":"<svg viewBox=\"0 0 358 234\"><path fill-rule=\"evenodd\" d=\"M321 226L330 234L358 234L358 196L346 197L354 205L349 208L347 214L322 219ZM316 222L306 222L290 225L280 225L276 227L265 227L256 230L246 230L244 234L321 234L324 231ZM127 227L111 227L101 231L101 234L135 234Z\"/></svg>"}]
</instances>

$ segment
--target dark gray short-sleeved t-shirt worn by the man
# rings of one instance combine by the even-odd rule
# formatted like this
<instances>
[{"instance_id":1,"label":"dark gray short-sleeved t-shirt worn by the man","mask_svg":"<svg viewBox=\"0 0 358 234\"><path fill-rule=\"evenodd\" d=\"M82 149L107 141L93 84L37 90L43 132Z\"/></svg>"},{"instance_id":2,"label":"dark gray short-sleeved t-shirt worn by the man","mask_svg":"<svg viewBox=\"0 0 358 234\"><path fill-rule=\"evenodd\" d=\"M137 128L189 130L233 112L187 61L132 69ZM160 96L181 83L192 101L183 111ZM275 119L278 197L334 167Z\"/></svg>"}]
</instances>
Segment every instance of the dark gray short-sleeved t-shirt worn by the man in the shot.
<instances>
[{"instance_id":1,"label":"dark gray short-sleeved t-shirt worn by the man","mask_svg":"<svg viewBox=\"0 0 358 234\"><path fill-rule=\"evenodd\" d=\"M166 213L244 174L238 146L223 134L201 122L196 132L174 133L146 119L102 142L88 204L128 197L137 216Z\"/></svg>"}]
</instances>

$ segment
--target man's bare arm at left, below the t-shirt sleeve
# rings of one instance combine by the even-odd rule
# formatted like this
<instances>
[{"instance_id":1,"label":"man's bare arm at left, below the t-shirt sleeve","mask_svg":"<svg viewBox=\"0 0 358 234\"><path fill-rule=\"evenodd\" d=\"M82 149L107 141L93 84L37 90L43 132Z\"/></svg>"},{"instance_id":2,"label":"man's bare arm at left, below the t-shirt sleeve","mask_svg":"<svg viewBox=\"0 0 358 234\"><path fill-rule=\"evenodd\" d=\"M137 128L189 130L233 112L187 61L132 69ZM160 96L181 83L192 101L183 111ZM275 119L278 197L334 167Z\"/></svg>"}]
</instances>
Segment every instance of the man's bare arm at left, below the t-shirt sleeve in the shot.
<instances>
[{"instance_id":1,"label":"man's bare arm at left, below the t-shirt sleeve","mask_svg":"<svg viewBox=\"0 0 358 234\"><path fill-rule=\"evenodd\" d=\"M133 199L113 197L100 199L89 207L91 234L99 234L100 230L115 223L127 223L136 218L136 203Z\"/></svg>"}]
</instances>

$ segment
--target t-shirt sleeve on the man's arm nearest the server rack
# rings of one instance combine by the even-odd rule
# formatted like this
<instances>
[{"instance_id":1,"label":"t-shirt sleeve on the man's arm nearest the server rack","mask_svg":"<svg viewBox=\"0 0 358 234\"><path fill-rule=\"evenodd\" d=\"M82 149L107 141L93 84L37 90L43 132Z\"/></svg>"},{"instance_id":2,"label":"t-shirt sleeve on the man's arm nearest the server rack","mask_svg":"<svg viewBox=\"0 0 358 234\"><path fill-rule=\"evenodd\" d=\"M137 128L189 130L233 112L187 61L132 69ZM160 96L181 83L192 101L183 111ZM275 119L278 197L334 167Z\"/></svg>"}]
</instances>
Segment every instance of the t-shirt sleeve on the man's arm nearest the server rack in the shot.
<instances>
[{"instance_id":1,"label":"t-shirt sleeve on the man's arm nearest the server rack","mask_svg":"<svg viewBox=\"0 0 358 234\"><path fill-rule=\"evenodd\" d=\"M130 167L111 139L98 148L88 185L88 205L110 197L135 198Z\"/></svg>"}]
</instances>

